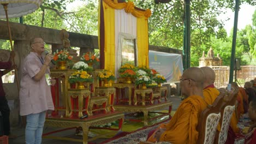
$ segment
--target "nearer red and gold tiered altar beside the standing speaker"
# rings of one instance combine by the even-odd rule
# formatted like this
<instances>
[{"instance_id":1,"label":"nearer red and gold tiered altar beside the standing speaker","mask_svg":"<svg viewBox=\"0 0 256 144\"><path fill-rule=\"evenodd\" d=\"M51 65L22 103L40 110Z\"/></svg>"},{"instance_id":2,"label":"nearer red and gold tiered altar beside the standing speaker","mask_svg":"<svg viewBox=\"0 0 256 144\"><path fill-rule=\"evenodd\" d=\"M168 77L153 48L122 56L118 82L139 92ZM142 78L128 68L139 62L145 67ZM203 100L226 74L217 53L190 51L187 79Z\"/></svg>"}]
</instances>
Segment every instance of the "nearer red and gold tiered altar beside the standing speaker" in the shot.
<instances>
[{"instance_id":1,"label":"nearer red and gold tiered altar beside the standing speaker","mask_svg":"<svg viewBox=\"0 0 256 144\"><path fill-rule=\"evenodd\" d=\"M68 82L69 76L75 70L51 70L51 76L58 81L57 85L51 88L55 111L51 116L46 117L45 126L65 128L61 130L51 131L43 134L44 138L82 141L88 143L88 133L90 128L97 125L107 124L119 120L119 128L109 130L120 130L124 113L114 110L115 88L113 87L95 87L98 82L94 81L93 88L76 89L70 88ZM96 73L93 73L95 77ZM90 83L87 83L90 85ZM97 90L97 92L95 92ZM87 118L80 117L88 115ZM83 130L83 140L71 139L67 137L50 136L69 129ZM104 128L108 129L108 128Z\"/></svg>"}]
</instances>

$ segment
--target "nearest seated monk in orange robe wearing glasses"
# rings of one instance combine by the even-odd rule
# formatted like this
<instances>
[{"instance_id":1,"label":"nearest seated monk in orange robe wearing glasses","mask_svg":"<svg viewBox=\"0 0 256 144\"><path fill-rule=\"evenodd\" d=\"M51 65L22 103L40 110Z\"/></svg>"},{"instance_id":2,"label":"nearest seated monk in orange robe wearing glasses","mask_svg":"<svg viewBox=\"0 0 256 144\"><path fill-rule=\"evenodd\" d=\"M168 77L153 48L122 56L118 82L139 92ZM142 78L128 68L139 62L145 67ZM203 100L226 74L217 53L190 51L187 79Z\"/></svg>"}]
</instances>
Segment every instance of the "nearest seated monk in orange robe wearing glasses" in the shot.
<instances>
[{"instance_id":1,"label":"nearest seated monk in orange robe wearing glasses","mask_svg":"<svg viewBox=\"0 0 256 144\"><path fill-rule=\"evenodd\" d=\"M200 68L191 67L184 71L181 92L185 99L167 124L161 124L149 137L149 142L168 141L171 143L197 143L196 130L200 115L207 104L203 99L205 74Z\"/></svg>"}]
</instances>

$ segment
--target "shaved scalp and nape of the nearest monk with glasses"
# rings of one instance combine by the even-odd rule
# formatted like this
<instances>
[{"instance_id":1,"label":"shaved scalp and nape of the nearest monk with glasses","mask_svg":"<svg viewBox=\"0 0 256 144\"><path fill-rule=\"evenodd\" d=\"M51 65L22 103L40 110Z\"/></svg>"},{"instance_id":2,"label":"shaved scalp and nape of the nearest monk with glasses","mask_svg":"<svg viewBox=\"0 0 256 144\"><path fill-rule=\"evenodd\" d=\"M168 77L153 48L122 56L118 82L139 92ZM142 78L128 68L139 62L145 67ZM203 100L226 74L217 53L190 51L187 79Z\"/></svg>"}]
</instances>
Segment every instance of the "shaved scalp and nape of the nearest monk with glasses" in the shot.
<instances>
[{"instance_id":1,"label":"shaved scalp and nape of the nearest monk with glasses","mask_svg":"<svg viewBox=\"0 0 256 144\"><path fill-rule=\"evenodd\" d=\"M205 81L205 73L200 68L191 67L184 71L182 75L183 79L191 79L196 83L196 87L203 88L203 82Z\"/></svg>"}]
</instances>

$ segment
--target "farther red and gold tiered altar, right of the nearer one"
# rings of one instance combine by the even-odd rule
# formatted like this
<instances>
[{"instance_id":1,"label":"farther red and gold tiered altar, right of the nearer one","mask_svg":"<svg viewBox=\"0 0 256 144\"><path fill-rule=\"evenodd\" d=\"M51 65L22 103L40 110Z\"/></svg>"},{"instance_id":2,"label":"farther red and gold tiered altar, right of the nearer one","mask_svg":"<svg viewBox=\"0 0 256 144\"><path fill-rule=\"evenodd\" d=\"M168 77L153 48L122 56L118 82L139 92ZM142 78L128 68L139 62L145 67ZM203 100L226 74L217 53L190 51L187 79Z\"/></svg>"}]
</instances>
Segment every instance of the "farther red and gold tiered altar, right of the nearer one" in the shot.
<instances>
[{"instance_id":1,"label":"farther red and gold tiered altar, right of the nearer one","mask_svg":"<svg viewBox=\"0 0 256 144\"><path fill-rule=\"evenodd\" d=\"M113 87L117 89L117 97L115 99L115 111L127 112L127 113L136 113L143 112L143 121L138 119L126 119L129 121L143 122L144 125L148 125L149 121L153 119L170 116L172 110L172 102L167 101L167 87L155 87L141 89L136 88L134 83L113 83ZM121 91L121 89L129 88L129 91ZM119 91L119 92L118 92ZM121 91L121 92L120 92ZM125 93L126 92L126 93ZM164 92L164 95L162 95ZM128 93L128 94L127 94ZM129 103L124 103L124 100L127 99L126 95L129 97ZM161 98L165 98L161 100ZM158 103L155 104L154 100L158 100ZM168 108L168 112L160 112ZM149 118L148 113L160 113L161 115Z\"/></svg>"}]
</instances>

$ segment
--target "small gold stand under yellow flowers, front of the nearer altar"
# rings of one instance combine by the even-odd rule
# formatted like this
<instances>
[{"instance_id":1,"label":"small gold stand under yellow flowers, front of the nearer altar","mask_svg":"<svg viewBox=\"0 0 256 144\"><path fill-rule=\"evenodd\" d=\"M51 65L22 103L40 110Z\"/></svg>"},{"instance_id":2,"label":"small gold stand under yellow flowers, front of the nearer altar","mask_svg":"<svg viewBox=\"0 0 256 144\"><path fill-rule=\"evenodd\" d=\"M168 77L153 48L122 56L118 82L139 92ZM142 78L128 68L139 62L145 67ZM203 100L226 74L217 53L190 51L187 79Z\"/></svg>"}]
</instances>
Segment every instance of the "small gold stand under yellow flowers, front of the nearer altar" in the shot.
<instances>
[{"instance_id":1,"label":"small gold stand under yellow flowers, front of the nearer altar","mask_svg":"<svg viewBox=\"0 0 256 144\"><path fill-rule=\"evenodd\" d=\"M91 91L89 89L68 89L68 97L71 101L71 116L74 110L74 99L78 97L78 117L83 116L83 112L89 115L88 107L90 102ZM84 108L84 109L83 109Z\"/></svg>"}]
</instances>

